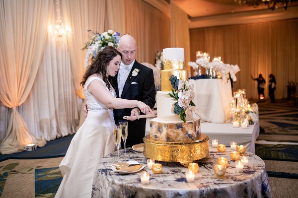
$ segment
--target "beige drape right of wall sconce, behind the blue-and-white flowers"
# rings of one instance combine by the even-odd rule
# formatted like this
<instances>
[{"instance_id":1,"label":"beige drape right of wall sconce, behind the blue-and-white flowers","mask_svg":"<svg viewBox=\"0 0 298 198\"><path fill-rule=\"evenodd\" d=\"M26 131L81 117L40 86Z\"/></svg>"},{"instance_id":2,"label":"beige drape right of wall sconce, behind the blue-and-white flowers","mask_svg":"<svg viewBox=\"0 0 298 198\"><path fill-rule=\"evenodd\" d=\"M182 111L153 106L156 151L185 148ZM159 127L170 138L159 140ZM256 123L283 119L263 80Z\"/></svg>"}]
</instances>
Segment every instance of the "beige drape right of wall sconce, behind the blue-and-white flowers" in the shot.
<instances>
[{"instance_id":1,"label":"beige drape right of wall sconce, behind the blue-and-white flowers","mask_svg":"<svg viewBox=\"0 0 298 198\"><path fill-rule=\"evenodd\" d=\"M86 51L81 51L81 49L92 36L87 30L100 33L104 31L106 0L62 0L62 9L65 24L72 27L73 30L68 44L75 93L80 98L84 98L79 83L85 72Z\"/></svg>"}]
</instances>

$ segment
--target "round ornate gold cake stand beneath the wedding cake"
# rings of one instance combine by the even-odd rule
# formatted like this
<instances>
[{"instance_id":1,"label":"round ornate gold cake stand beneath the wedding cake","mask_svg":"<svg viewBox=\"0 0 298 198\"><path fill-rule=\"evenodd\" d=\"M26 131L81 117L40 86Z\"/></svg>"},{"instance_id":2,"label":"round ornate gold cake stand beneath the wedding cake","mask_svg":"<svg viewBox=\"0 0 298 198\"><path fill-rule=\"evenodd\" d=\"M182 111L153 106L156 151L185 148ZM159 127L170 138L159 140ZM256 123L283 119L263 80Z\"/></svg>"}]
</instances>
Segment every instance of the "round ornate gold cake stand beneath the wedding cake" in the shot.
<instances>
[{"instance_id":1,"label":"round ornate gold cake stand beneath the wedding cake","mask_svg":"<svg viewBox=\"0 0 298 198\"><path fill-rule=\"evenodd\" d=\"M163 162L180 162L187 165L209 155L209 137L202 134L192 141L167 142L146 135L144 156Z\"/></svg>"}]
</instances>

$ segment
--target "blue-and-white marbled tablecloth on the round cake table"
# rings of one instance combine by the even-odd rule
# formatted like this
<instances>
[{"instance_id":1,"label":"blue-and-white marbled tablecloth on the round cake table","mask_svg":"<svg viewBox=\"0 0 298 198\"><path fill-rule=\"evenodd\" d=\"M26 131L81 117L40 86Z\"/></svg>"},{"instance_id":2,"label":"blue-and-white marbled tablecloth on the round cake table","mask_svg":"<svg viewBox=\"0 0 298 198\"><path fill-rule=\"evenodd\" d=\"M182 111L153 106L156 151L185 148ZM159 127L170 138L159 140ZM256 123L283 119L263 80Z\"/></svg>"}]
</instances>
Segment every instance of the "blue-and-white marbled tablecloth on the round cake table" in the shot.
<instances>
[{"instance_id":1,"label":"blue-and-white marbled tablecloth on the round cake table","mask_svg":"<svg viewBox=\"0 0 298 198\"><path fill-rule=\"evenodd\" d=\"M117 151L102 158L95 171L92 198L271 198L271 189L264 161L257 155L246 152L248 166L242 173L235 170L235 162L229 157L230 147L225 152L218 152L209 145L209 155L199 163L199 172L195 182L187 183L186 168L180 163L158 162L162 164L162 173L153 174L146 166L132 174L119 174L111 170L111 164L117 161ZM219 157L228 159L228 167L223 179L215 176L213 168ZM120 161L136 160L147 163L143 153L127 149L127 155L120 151ZM156 162L155 162L156 163ZM150 174L150 183L141 184L140 173Z\"/></svg>"}]
</instances>

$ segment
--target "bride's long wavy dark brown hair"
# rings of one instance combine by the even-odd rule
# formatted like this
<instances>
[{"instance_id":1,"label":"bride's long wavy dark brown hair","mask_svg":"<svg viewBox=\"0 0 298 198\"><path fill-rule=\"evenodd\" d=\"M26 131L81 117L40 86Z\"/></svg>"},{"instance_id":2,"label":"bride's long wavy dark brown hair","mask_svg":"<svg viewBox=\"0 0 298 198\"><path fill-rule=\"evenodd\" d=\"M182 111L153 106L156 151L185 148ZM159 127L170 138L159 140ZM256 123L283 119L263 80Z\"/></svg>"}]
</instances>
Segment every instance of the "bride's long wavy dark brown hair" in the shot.
<instances>
[{"instance_id":1,"label":"bride's long wavy dark brown hair","mask_svg":"<svg viewBox=\"0 0 298 198\"><path fill-rule=\"evenodd\" d=\"M107 87L111 89L111 84L108 80L108 78L111 78L112 76L107 77L107 67L109 63L116 57L117 55L120 55L122 58L122 54L116 50L112 46L102 47L95 60L92 61L91 65L89 65L86 69L86 72L83 76L83 80L80 82L80 85L84 87L86 80L90 75L93 74L101 74L102 80L107 84Z\"/></svg>"}]
</instances>

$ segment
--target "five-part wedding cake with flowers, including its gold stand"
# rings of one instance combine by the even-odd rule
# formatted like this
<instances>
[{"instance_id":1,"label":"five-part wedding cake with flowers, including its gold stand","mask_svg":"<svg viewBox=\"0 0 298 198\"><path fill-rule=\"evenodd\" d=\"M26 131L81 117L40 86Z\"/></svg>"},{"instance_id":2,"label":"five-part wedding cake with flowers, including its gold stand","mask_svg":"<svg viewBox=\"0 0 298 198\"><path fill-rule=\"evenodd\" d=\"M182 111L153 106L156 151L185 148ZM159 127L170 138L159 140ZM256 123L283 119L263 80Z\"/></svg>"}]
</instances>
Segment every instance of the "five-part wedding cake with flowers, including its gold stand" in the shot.
<instances>
[{"instance_id":1,"label":"five-part wedding cake with flowers, including its gold stand","mask_svg":"<svg viewBox=\"0 0 298 198\"><path fill-rule=\"evenodd\" d=\"M157 117L150 121L143 154L164 162L188 163L209 154L209 137L201 133L201 119L195 111L193 86L184 69L184 49L163 49L161 90L156 93Z\"/></svg>"}]
</instances>

